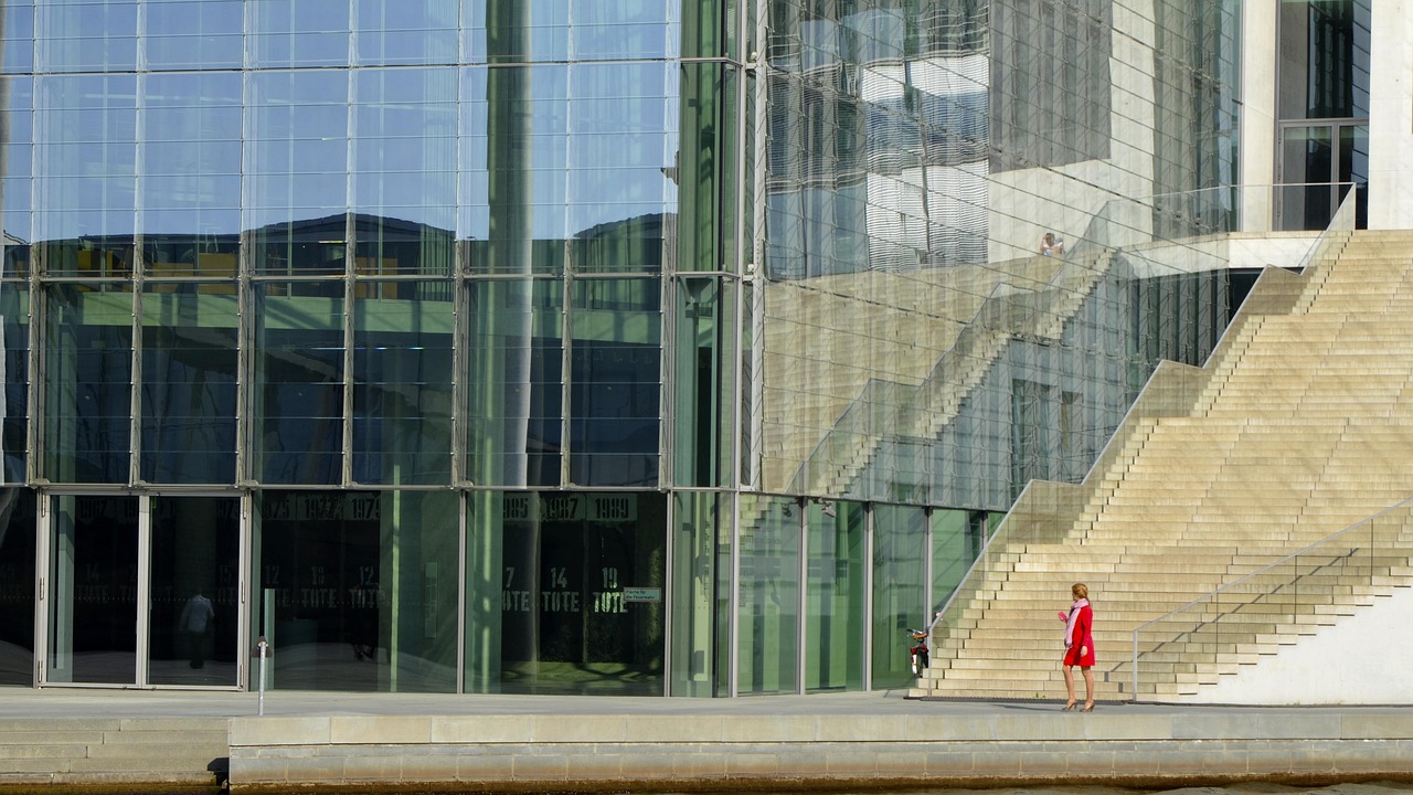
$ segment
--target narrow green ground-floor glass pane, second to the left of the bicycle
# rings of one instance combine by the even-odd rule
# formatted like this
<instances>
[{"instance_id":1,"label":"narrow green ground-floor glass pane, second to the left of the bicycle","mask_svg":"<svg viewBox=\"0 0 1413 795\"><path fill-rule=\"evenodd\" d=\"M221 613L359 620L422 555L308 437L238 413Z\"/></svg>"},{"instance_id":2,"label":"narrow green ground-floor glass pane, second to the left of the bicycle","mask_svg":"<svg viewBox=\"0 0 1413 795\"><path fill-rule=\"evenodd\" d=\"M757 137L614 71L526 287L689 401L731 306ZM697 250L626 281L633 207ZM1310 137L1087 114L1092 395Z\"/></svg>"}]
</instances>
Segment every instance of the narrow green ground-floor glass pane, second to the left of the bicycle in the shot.
<instances>
[{"instance_id":1,"label":"narrow green ground-floor glass pane, second to the left of the bicycle","mask_svg":"<svg viewBox=\"0 0 1413 795\"><path fill-rule=\"evenodd\" d=\"M863 689L863 505L811 502L805 690Z\"/></svg>"}]
</instances>

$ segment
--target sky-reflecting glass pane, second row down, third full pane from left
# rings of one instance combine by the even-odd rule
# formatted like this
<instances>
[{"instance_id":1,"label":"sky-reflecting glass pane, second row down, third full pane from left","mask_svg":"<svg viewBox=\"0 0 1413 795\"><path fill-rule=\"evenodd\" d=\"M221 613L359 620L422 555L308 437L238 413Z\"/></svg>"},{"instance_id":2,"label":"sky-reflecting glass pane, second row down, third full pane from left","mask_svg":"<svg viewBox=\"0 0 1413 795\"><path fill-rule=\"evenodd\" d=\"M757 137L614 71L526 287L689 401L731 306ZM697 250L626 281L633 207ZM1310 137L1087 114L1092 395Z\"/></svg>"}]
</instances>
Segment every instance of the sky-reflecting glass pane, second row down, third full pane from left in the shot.
<instances>
[{"instance_id":1,"label":"sky-reflecting glass pane, second row down, third full pane from left","mask_svg":"<svg viewBox=\"0 0 1413 795\"><path fill-rule=\"evenodd\" d=\"M346 13L348 3L339 6ZM302 13L302 0L298 7ZM250 72L246 81L244 228L253 229L256 273L342 273L349 74Z\"/></svg>"}]
</instances>

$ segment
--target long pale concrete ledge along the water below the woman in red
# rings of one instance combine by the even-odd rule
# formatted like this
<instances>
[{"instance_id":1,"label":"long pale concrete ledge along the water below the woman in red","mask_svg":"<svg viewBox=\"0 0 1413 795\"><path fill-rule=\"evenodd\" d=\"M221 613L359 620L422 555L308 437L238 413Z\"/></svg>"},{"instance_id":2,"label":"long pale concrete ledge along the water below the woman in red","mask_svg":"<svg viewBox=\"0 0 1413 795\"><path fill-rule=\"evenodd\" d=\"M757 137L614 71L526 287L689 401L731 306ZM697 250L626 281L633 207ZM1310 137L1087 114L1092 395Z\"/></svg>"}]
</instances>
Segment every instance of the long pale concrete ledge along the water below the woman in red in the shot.
<instances>
[{"instance_id":1,"label":"long pale concrete ledge along the water below the woman in red","mask_svg":"<svg viewBox=\"0 0 1413 795\"><path fill-rule=\"evenodd\" d=\"M236 717L230 785L565 792L1413 779L1409 733L1413 716L1318 710Z\"/></svg>"}]
</instances>

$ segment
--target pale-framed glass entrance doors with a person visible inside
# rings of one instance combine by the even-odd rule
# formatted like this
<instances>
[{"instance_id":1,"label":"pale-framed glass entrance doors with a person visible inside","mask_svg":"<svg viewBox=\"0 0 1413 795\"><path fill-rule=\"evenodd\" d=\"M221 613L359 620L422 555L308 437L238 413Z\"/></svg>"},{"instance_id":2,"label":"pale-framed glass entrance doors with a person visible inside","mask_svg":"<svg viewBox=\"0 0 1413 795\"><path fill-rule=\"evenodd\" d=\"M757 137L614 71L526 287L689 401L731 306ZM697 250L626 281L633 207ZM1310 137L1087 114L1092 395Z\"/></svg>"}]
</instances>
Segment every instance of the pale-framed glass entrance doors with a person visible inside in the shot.
<instances>
[{"instance_id":1,"label":"pale-framed glass entrance doors with a person visible inside","mask_svg":"<svg viewBox=\"0 0 1413 795\"><path fill-rule=\"evenodd\" d=\"M239 498L49 501L41 685L239 685Z\"/></svg>"}]
</instances>

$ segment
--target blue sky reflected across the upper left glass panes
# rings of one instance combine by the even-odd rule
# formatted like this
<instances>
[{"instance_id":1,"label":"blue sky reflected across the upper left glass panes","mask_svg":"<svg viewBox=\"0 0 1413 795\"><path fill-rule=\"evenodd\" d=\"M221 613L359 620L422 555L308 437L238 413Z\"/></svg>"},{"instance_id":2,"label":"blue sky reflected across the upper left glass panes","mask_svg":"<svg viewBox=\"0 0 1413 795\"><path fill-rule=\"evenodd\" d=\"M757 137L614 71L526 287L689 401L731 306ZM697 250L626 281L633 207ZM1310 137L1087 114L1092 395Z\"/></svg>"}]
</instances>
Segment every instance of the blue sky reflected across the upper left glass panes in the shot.
<instances>
[{"instance_id":1,"label":"blue sky reflected across the upper left glass panes","mask_svg":"<svg viewBox=\"0 0 1413 795\"><path fill-rule=\"evenodd\" d=\"M681 28L671 3L536 3L528 96L495 109L487 66L455 64L459 52L485 59L485 33L462 31L458 45L445 35L447 20L432 18L434 6L451 4L363 0L356 20L348 3L324 0L250 0L243 16L227 0L162 6L131 23L146 25L143 48L90 47L92 37L124 40L123 14L93 28L69 11L47 11L37 17L32 57L6 52L11 71L117 71L133 66L130 51L147 59L138 68L196 69L11 78L0 198L13 235L233 235L357 212L485 239L487 166L497 149L528 150L521 197L537 239L675 209L677 187L664 174L675 158L680 110L680 65L670 58ZM212 13L195 13L198 6ZM329 14L311 13L325 6ZM463 0L461 16L482 20L485 1ZM201 71L239 65L223 45L239 40L226 30L237 20L257 28L244 31L254 37L247 61L284 68ZM348 31L326 35L350 25L352 45ZM376 25L383 30L367 30ZM88 38L45 37L69 28ZM196 47L203 40L208 61ZM266 40L284 41L285 55ZM414 41L425 45L420 59ZM589 62L544 62L561 58ZM369 59L401 66L288 68ZM489 134L493 110L521 109L526 140Z\"/></svg>"}]
</instances>

